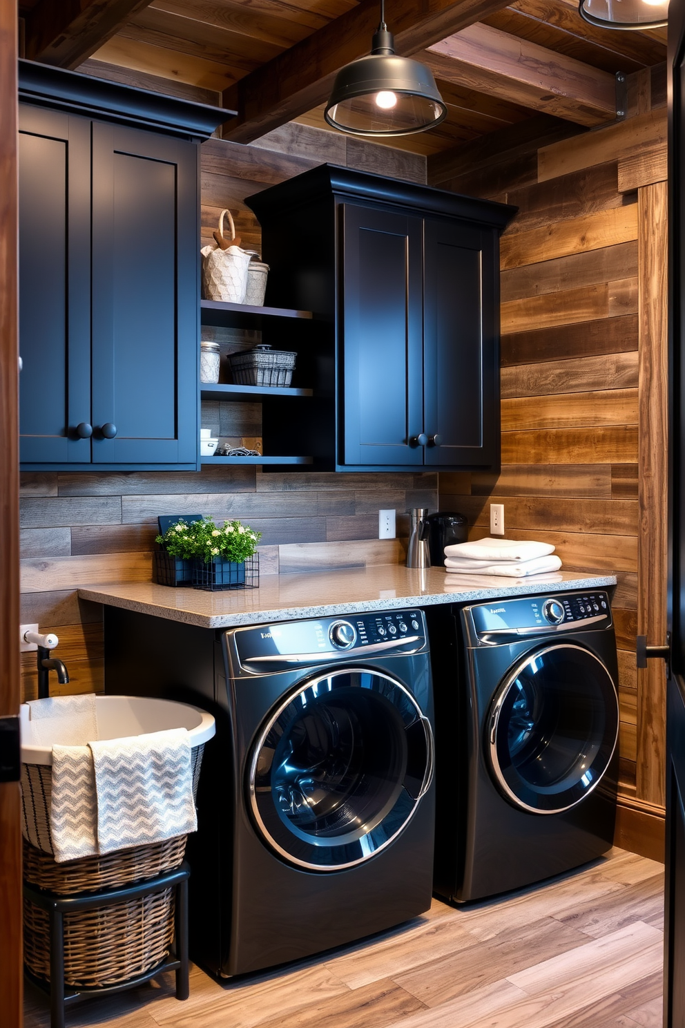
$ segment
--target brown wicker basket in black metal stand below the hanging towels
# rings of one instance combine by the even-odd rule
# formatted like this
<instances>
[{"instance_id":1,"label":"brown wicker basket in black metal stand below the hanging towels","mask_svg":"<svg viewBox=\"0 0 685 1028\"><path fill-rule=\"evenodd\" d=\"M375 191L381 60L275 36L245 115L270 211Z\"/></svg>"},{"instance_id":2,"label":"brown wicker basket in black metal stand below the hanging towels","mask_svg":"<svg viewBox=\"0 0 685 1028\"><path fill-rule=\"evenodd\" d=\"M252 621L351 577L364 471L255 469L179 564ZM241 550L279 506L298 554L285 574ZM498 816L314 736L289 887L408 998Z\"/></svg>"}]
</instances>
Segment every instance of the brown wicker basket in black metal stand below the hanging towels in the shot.
<instances>
[{"instance_id":1,"label":"brown wicker basket in black metal stand below the hanging towels","mask_svg":"<svg viewBox=\"0 0 685 1028\"><path fill-rule=\"evenodd\" d=\"M24 877L38 888L69 895L132 884L178 868L186 837L119 850L107 856L55 864L24 843ZM156 967L174 939L175 896L169 887L137 900L64 915L65 984L75 988L118 985ZM49 917L24 901L24 959L28 969L50 980Z\"/></svg>"}]
</instances>

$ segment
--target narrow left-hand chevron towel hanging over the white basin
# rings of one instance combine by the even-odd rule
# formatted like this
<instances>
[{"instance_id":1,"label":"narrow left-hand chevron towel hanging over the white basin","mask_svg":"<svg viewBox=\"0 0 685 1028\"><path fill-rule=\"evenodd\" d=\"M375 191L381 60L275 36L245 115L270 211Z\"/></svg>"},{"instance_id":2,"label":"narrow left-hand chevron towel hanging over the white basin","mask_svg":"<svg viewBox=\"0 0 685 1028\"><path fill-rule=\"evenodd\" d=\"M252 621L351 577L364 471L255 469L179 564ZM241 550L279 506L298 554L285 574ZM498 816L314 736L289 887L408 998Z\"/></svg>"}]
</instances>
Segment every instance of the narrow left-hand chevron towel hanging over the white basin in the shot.
<instances>
[{"instance_id":1,"label":"narrow left-hand chevron towel hanging over the white basin","mask_svg":"<svg viewBox=\"0 0 685 1028\"><path fill-rule=\"evenodd\" d=\"M58 864L93 856L98 803L88 746L52 746L50 836Z\"/></svg>"}]
</instances>

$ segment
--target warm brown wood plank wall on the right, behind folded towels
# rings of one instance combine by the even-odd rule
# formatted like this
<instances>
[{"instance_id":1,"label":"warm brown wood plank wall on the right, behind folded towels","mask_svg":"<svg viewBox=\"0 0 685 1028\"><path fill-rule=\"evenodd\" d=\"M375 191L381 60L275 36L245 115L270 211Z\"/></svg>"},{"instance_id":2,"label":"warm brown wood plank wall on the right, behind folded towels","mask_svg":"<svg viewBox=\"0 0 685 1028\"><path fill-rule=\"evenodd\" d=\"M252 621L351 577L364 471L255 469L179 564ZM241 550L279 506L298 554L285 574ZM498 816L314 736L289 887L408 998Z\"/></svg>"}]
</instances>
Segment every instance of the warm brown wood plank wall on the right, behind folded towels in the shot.
<instances>
[{"instance_id":1,"label":"warm brown wood plank wall on the right, behind folded towels","mask_svg":"<svg viewBox=\"0 0 685 1028\"><path fill-rule=\"evenodd\" d=\"M439 481L441 509L466 514L472 538L503 503L508 538L617 573L617 841L656 856L664 671L638 671L635 650L638 632L665 634L664 79L630 76L622 122L449 183L519 214L501 246L501 474Z\"/></svg>"}]
</instances>

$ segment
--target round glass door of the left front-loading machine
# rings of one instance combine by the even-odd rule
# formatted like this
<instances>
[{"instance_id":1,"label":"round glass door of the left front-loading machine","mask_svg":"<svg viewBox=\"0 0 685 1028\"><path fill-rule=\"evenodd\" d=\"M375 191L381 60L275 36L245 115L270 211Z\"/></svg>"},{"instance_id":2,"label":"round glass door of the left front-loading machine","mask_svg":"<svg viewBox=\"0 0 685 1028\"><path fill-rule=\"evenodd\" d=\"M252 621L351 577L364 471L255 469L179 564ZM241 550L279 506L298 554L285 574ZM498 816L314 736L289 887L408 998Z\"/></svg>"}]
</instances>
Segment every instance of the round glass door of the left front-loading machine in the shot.
<instances>
[{"instance_id":1,"label":"round glass door of the left front-loading machine","mask_svg":"<svg viewBox=\"0 0 685 1028\"><path fill-rule=\"evenodd\" d=\"M340 668L302 684L267 719L250 806L282 857L339 871L402 832L432 769L431 727L412 693L381 672Z\"/></svg>"}]
</instances>

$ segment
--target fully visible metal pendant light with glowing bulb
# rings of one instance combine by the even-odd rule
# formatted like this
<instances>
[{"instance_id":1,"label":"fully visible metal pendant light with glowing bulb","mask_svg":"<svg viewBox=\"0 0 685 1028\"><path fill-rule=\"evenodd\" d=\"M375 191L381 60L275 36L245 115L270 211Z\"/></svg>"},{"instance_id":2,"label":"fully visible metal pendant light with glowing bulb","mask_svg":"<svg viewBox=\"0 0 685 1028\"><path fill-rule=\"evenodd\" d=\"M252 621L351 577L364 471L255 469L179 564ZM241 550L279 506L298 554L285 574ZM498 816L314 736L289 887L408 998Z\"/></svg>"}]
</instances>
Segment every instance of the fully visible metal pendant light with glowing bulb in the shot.
<instances>
[{"instance_id":1,"label":"fully visible metal pendant light with glowing bulb","mask_svg":"<svg viewBox=\"0 0 685 1028\"><path fill-rule=\"evenodd\" d=\"M428 68L394 52L381 0L381 22L371 53L340 69L326 120L354 136L409 136L440 124L446 114Z\"/></svg>"}]
</instances>

